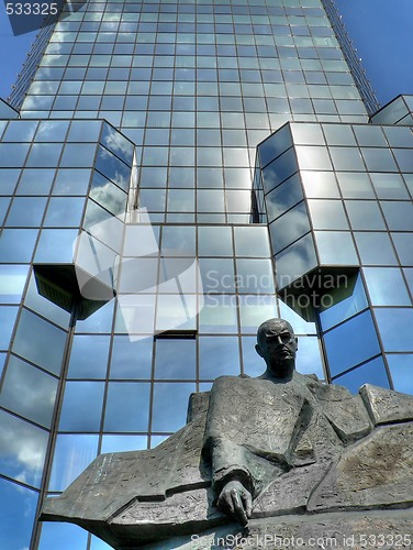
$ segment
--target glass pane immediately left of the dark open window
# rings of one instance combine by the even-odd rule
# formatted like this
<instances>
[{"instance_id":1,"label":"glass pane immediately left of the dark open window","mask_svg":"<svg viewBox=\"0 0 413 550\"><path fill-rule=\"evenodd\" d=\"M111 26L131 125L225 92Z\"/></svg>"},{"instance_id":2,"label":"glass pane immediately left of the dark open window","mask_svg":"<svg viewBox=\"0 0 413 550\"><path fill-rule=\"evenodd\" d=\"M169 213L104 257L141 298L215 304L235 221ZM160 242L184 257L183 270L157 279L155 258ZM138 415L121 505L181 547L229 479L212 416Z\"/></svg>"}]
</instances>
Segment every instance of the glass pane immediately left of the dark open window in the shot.
<instances>
[{"instance_id":1,"label":"glass pane immediately left of the dark open window","mask_svg":"<svg viewBox=\"0 0 413 550\"><path fill-rule=\"evenodd\" d=\"M131 341L129 337L116 336L113 339L111 359L111 378L149 378L152 370L150 338Z\"/></svg>"}]
</instances>

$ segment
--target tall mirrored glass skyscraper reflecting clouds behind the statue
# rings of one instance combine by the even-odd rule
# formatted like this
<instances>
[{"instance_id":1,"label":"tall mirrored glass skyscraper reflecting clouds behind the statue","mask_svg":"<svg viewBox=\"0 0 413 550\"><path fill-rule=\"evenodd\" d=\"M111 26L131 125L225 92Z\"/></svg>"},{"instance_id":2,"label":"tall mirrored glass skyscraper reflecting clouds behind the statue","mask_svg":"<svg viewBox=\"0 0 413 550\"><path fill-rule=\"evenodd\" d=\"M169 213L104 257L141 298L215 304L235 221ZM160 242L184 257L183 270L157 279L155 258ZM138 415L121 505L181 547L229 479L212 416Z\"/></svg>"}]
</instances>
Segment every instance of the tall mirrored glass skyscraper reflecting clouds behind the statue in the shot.
<instances>
[{"instance_id":1,"label":"tall mirrored glass skyscraper reflecting clouds behind the statue","mask_svg":"<svg viewBox=\"0 0 413 550\"><path fill-rule=\"evenodd\" d=\"M332 0L76 8L0 105L4 550L109 548L43 499L260 374L270 317L300 372L413 393L413 100L378 111Z\"/></svg>"}]
</instances>

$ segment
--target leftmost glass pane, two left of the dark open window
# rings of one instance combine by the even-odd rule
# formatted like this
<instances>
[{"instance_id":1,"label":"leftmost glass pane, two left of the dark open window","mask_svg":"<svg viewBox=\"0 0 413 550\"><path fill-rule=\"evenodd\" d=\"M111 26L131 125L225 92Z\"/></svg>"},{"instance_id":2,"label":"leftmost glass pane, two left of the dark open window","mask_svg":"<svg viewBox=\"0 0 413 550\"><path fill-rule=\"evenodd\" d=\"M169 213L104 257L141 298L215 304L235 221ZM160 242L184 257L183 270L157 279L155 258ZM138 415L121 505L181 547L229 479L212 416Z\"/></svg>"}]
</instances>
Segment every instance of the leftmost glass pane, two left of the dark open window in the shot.
<instances>
[{"instance_id":1,"label":"leftmost glass pane, two left of the dark open window","mask_svg":"<svg viewBox=\"0 0 413 550\"><path fill-rule=\"evenodd\" d=\"M109 337L75 336L70 350L69 378L104 378L108 367Z\"/></svg>"}]
</instances>

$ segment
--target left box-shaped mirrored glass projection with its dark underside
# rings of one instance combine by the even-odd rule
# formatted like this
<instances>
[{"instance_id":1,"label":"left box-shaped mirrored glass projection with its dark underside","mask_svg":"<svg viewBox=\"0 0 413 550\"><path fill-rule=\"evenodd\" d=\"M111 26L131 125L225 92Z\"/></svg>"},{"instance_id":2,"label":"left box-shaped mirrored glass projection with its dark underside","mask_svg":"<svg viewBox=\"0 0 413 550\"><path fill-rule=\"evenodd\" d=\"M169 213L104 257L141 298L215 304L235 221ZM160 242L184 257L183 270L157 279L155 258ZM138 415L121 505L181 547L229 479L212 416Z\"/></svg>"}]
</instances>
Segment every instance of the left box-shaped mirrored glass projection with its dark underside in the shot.
<instances>
[{"instance_id":1,"label":"left box-shaped mirrored glass projection with its dark underside","mask_svg":"<svg viewBox=\"0 0 413 550\"><path fill-rule=\"evenodd\" d=\"M100 120L1 121L0 133L4 256L29 262L16 243L36 242L38 290L67 310L113 297L134 144Z\"/></svg>"}]
</instances>

